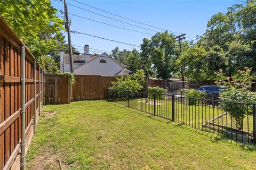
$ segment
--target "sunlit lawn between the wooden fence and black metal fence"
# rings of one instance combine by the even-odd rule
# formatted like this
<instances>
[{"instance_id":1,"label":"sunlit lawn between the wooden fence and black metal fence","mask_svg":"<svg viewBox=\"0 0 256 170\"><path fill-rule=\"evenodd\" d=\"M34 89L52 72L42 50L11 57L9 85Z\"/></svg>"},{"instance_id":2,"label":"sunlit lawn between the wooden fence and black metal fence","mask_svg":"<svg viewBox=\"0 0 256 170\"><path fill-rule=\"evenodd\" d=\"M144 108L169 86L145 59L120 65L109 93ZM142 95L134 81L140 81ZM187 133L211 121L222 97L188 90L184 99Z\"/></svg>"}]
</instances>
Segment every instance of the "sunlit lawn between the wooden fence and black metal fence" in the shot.
<instances>
[{"instance_id":1,"label":"sunlit lawn between the wooden fence and black metal fence","mask_svg":"<svg viewBox=\"0 0 256 170\"><path fill-rule=\"evenodd\" d=\"M44 112L27 169L60 169L57 159L64 169L256 168L253 146L117 103L77 101Z\"/></svg>"}]
</instances>

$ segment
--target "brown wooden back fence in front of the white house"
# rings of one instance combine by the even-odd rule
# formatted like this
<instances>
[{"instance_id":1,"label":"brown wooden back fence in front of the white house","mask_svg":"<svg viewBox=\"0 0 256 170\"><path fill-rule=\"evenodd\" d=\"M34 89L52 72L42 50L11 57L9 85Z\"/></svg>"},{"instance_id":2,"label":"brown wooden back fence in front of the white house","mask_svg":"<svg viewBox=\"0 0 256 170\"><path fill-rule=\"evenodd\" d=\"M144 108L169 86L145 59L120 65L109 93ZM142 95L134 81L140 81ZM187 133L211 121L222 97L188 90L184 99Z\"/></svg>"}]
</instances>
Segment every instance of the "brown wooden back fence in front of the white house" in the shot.
<instances>
[{"instance_id":1,"label":"brown wooden back fence in front of the white house","mask_svg":"<svg viewBox=\"0 0 256 170\"><path fill-rule=\"evenodd\" d=\"M68 77L45 75L45 104L69 104L70 101L106 98L106 89L115 77L100 75L75 75L76 83L70 86Z\"/></svg>"}]
</instances>

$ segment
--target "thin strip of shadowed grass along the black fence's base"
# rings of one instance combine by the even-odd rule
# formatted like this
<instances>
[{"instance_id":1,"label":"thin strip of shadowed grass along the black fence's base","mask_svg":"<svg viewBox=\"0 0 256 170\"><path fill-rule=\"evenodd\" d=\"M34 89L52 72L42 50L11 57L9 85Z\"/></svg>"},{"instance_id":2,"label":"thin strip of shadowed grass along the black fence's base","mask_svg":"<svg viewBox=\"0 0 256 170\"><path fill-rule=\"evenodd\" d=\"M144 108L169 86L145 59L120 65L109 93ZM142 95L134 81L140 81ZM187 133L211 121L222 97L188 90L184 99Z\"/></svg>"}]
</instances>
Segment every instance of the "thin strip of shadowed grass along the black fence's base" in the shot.
<instances>
[{"instance_id":1,"label":"thin strip of shadowed grass along the black fence's base","mask_svg":"<svg viewBox=\"0 0 256 170\"><path fill-rule=\"evenodd\" d=\"M148 114L146 112L138 111L137 109L129 108L129 107L125 106L125 105L118 104L115 101L111 101L111 103L115 104L115 106L117 106L117 107L122 107L122 108L126 107L127 109L129 109L129 111L138 113L138 114L140 114L140 115L142 115L144 117L150 118L151 120L155 120L155 121L163 122L163 123L167 123L167 124L172 123L177 128L186 129L186 130L189 130L189 131L192 131L192 132L204 135L206 137L211 138L213 142L217 142L218 143L219 141L222 141L222 142L226 142L226 143L230 143L230 144L235 143L236 146L241 147L241 148L243 148L245 150L256 151L256 146L250 145L249 143L242 143L242 142L239 142L239 141L228 139L228 138L225 137L224 134L221 134L221 133L213 133L213 132L210 132L209 130L204 130L204 129L202 129L202 130L201 129L195 129L195 128L192 128L192 127L187 126L185 124L180 124L180 123L177 123L177 122L172 122L170 120L166 120L163 117L154 116L154 115Z\"/></svg>"}]
</instances>

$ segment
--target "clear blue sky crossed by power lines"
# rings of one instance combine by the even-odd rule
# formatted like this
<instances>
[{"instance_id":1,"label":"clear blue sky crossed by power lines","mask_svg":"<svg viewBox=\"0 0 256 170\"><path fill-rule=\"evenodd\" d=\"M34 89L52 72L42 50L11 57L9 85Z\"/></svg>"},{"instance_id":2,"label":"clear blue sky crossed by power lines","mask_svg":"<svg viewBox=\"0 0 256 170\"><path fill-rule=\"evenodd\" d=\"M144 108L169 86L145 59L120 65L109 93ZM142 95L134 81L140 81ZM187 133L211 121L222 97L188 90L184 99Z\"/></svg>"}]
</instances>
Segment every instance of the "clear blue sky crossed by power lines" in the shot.
<instances>
[{"instance_id":1,"label":"clear blue sky crossed by power lines","mask_svg":"<svg viewBox=\"0 0 256 170\"><path fill-rule=\"evenodd\" d=\"M59 0L58 0L59 1ZM84 1L77 0L85 4L101 8L102 10L115 13L125 18L143 22L149 25L153 25L158 28L167 29L170 31L186 33L187 40L196 40L197 35L202 35L205 32L207 21L211 19L211 16L218 13L227 11L227 7L241 3L239 1L233 0L208 0L208 1ZM129 20L118 18L117 16L107 14L102 11L98 11L89 6L79 4L73 0L66 0L67 3L85 8L102 15L115 18L117 20L122 20L129 22L140 27L145 27L147 29L158 30L155 28L148 27L139 23L135 23ZM56 2L52 0L52 5L58 10L63 11L63 3ZM137 31L147 32L155 34L156 32L133 27L132 25L127 25L118 21L114 21L97 14L93 14L79 8L68 5L68 12L76 15L83 16L85 18L106 22L109 24L117 25L119 27L124 27L127 29L133 29ZM63 16L63 14L60 14ZM95 35L103 38L123 41L125 43L140 45L143 38L150 38L150 35L143 33L132 32L129 30L123 30L119 28L114 28L109 25L104 25L101 23L77 18L76 16L69 15L71 19L71 30L88 33L90 35ZM65 33L67 37L67 33ZM102 40L94 37L89 37L85 35L77 35L71 33L71 39L73 45L84 46L88 44L90 48L102 49L111 51L116 46L119 49L133 49L133 46L123 45L119 43L114 43L107 40ZM79 47L78 47L79 48ZM139 47L135 47L139 49ZM80 50L83 52L83 50Z\"/></svg>"}]
</instances>

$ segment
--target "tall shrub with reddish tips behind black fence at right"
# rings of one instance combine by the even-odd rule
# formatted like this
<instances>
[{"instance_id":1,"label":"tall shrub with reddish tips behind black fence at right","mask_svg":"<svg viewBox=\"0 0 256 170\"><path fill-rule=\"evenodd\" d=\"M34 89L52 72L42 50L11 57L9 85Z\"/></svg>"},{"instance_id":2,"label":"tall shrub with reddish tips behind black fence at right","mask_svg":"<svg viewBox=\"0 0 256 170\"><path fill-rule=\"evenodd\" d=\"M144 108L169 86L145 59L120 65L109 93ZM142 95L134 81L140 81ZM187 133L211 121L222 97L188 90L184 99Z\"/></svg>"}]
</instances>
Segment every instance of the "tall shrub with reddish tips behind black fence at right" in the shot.
<instances>
[{"instance_id":1,"label":"tall shrub with reddish tips behind black fence at right","mask_svg":"<svg viewBox=\"0 0 256 170\"><path fill-rule=\"evenodd\" d=\"M244 68L244 71L238 70L231 78L225 77L222 69L216 74L215 83L222 87L220 98L223 101L232 101L236 103L253 104L256 102L256 92L250 91L251 80L250 76L251 68ZM223 105L226 112L233 118L238 129L243 129L243 118L247 112L252 112L252 105L248 108L239 104L227 103Z\"/></svg>"}]
</instances>

